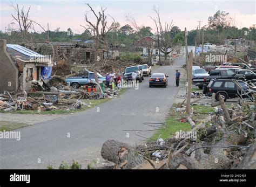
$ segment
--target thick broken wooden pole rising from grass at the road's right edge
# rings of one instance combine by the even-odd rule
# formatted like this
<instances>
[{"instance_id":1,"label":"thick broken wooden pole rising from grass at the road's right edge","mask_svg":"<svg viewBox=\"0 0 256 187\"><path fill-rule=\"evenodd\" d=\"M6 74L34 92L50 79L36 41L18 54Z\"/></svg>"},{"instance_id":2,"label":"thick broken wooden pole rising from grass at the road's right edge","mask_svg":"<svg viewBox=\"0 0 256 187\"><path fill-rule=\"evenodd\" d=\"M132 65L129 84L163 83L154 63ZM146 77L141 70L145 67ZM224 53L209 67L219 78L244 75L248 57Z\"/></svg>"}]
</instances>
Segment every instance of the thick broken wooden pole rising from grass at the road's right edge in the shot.
<instances>
[{"instance_id":1,"label":"thick broken wooden pole rising from grass at the road's right edge","mask_svg":"<svg viewBox=\"0 0 256 187\"><path fill-rule=\"evenodd\" d=\"M190 98L191 98L191 85L192 85L192 65L193 65L193 51L190 51L188 57L188 73L187 73L187 98L186 98L186 114L190 115Z\"/></svg>"}]
</instances>

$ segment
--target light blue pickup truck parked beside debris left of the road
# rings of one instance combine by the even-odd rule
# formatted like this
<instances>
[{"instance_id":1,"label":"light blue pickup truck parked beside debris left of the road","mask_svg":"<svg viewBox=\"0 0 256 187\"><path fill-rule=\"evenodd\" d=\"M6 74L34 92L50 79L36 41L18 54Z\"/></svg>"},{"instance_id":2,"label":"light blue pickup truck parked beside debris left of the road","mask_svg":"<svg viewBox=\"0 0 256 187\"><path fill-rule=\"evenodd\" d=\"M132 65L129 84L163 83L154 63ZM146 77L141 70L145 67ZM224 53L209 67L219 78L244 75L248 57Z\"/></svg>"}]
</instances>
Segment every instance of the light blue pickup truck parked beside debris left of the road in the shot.
<instances>
[{"instance_id":1,"label":"light blue pickup truck parked beside debris left of the road","mask_svg":"<svg viewBox=\"0 0 256 187\"><path fill-rule=\"evenodd\" d=\"M103 82L105 84L106 77L102 76L101 74L98 74L99 82ZM87 85L88 82L95 82L95 75L93 72L88 72L87 75L78 75L75 77L69 77L65 79L66 85L72 86L72 88L79 88L80 86Z\"/></svg>"}]
</instances>

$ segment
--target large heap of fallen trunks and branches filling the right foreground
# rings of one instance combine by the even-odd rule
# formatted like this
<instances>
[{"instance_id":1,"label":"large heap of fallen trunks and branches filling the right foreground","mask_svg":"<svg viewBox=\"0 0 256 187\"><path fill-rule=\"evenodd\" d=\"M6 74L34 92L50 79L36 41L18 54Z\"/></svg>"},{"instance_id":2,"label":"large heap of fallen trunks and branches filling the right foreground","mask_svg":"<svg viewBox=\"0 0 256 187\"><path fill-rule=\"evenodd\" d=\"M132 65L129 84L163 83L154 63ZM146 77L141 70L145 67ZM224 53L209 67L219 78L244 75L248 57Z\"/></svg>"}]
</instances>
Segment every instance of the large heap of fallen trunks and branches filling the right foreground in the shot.
<instances>
[{"instance_id":1,"label":"large heap of fallen trunks and branches filling the right foreground","mask_svg":"<svg viewBox=\"0 0 256 187\"><path fill-rule=\"evenodd\" d=\"M228 113L221 97L213 105L223 111L207 117L216 121L215 126L208 126L207 120L194 126L188 117L196 140L175 136L138 147L107 140L102 157L113 162L114 169L256 169L254 111L243 100L237 103L237 116Z\"/></svg>"}]
</instances>

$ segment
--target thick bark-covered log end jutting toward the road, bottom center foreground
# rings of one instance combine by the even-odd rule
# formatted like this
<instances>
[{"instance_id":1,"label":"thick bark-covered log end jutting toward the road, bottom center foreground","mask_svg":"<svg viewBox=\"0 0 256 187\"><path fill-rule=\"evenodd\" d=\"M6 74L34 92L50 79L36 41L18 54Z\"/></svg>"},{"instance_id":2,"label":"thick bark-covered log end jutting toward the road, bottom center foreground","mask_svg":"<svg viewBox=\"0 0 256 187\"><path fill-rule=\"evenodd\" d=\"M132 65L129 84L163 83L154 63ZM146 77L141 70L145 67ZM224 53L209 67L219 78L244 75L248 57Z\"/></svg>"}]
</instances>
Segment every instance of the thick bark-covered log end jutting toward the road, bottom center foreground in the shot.
<instances>
[{"instance_id":1,"label":"thick bark-covered log end jutting toward the road, bottom center foreground","mask_svg":"<svg viewBox=\"0 0 256 187\"><path fill-rule=\"evenodd\" d=\"M145 161L144 157L138 154L136 149L129 144L116 140L107 140L104 142L101 155L105 160L117 164L122 169L132 169ZM123 164L125 162L126 164Z\"/></svg>"}]
</instances>

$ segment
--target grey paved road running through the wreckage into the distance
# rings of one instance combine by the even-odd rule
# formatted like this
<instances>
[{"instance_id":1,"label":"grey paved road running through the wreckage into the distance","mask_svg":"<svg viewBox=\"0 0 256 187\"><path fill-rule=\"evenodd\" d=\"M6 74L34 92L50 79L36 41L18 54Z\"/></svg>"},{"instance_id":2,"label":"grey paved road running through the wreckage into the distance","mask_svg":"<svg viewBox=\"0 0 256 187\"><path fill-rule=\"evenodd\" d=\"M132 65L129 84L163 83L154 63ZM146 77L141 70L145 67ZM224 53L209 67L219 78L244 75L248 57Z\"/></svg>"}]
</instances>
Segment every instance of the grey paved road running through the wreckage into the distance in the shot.
<instances>
[{"instance_id":1,"label":"grey paved road running through the wreckage into the distance","mask_svg":"<svg viewBox=\"0 0 256 187\"><path fill-rule=\"evenodd\" d=\"M102 166L100 148L106 140L142 143L145 139L137 136L136 131L127 130L150 130L144 122L164 122L178 92L175 70L184 61L179 58L174 66L153 70L169 75L167 88L149 88L146 77L139 89L129 88L120 98L103 103L99 108L19 129L20 141L0 139L0 169L46 169L49 164L59 166L62 161L70 163L72 160L82 163L84 168L97 158ZM152 131L148 131L141 135L149 137L151 134Z\"/></svg>"}]
</instances>

